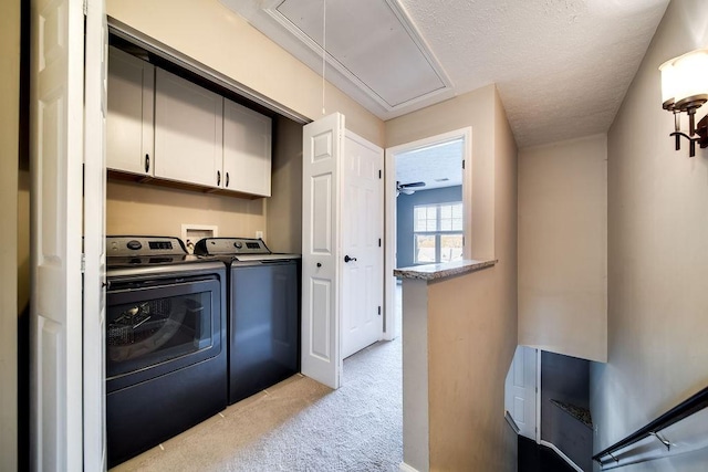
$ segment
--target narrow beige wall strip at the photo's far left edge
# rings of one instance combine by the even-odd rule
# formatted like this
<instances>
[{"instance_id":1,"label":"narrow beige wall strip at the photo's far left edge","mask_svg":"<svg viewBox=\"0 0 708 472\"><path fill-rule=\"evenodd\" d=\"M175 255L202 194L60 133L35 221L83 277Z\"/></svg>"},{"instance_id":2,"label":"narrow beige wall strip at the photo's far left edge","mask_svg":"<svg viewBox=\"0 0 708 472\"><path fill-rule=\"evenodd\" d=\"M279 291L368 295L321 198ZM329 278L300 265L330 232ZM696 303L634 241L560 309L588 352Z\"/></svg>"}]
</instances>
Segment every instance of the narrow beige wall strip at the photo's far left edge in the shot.
<instances>
[{"instance_id":1,"label":"narrow beige wall strip at the photo's far left edge","mask_svg":"<svg viewBox=\"0 0 708 472\"><path fill-rule=\"evenodd\" d=\"M18 468L18 156L20 108L20 1L0 15L0 470Z\"/></svg>"}]
</instances>

